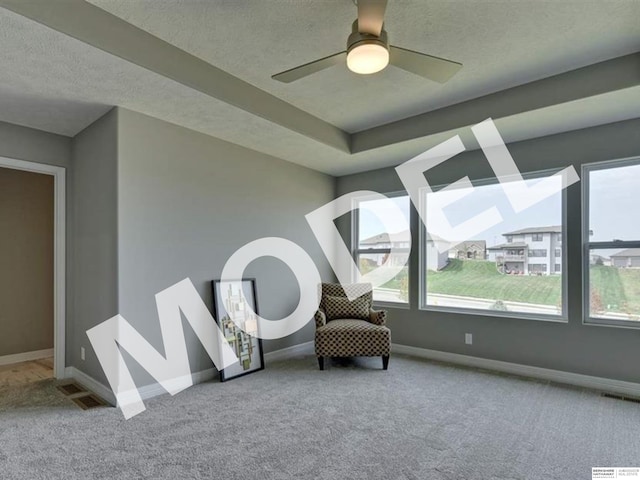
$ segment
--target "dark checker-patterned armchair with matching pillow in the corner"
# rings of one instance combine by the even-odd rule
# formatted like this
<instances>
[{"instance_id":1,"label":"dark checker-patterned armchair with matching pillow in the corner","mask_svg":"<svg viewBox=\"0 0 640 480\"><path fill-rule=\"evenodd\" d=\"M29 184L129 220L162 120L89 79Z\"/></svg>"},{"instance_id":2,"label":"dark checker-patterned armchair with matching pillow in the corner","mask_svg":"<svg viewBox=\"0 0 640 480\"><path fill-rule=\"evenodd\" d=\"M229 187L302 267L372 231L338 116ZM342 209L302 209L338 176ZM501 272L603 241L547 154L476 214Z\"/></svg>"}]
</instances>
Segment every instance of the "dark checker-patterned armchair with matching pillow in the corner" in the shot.
<instances>
[{"instance_id":1,"label":"dark checker-patterned armchair with matching pillow in the corner","mask_svg":"<svg viewBox=\"0 0 640 480\"><path fill-rule=\"evenodd\" d=\"M371 285L347 285L358 298L349 301L339 284L323 283L321 300L315 314L316 356L320 370L324 357L382 357L382 368L389 366L391 331L385 327L386 310L371 308ZM368 290L368 291L367 291Z\"/></svg>"}]
</instances>

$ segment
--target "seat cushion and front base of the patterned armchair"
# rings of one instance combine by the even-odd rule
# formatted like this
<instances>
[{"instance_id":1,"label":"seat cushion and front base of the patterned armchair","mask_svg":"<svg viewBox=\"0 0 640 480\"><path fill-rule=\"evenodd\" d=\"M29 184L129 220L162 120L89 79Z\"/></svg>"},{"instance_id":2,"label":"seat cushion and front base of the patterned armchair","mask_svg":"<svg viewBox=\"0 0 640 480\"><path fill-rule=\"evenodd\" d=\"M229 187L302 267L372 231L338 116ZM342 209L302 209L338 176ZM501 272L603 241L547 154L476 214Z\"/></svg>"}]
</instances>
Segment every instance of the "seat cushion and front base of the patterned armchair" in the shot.
<instances>
[{"instance_id":1,"label":"seat cushion and front base of the patterned armchair","mask_svg":"<svg viewBox=\"0 0 640 480\"><path fill-rule=\"evenodd\" d=\"M389 355L391 331L366 320L336 319L316 329L315 344L319 357Z\"/></svg>"}]
</instances>

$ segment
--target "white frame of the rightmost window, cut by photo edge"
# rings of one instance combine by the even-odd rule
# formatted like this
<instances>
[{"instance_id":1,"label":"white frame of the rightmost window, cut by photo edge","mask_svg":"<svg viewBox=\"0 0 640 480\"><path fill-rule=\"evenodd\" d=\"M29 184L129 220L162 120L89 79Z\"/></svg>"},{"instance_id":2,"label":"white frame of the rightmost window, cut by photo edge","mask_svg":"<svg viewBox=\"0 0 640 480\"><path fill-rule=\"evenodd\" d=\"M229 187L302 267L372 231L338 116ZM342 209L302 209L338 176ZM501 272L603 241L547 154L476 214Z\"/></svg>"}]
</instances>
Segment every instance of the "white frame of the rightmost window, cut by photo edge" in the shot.
<instances>
[{"instance_id":1,"label":"white frame of the rightmost window, cut by photo edge","mask_svg":"<svg viewBox=\"0 0 640 480\"><path fill-rule=\"evenodd\" d=\"M584 325L640 329L640 322L637 320L592 317L591 289L589 282L591 250L640 248L640 239L607 242L589 241L589 174L593 171L609 170L611 168L633 165L640 165L640 156L603 160L600 162L591 162L582 165L582 323Z\"/></svg>"}]
</instances>

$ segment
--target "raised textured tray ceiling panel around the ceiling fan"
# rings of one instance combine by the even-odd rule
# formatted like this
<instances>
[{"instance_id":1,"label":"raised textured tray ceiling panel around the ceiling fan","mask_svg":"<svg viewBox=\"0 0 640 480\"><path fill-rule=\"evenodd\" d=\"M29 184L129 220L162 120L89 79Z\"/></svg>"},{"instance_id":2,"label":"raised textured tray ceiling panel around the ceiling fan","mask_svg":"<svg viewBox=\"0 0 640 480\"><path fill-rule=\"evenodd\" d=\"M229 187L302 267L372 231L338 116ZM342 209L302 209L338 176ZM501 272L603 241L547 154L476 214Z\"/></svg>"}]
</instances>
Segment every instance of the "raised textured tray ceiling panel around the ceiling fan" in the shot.
<instances>
[{"instance_id":1,"label":"raised textured tray ceiling panel around the ceiling fan","mask_svg":"<svg viewBox=\"0 0 640 480\"><path fill-rule=\"evenodd\" d=\"M345 49L351 0L91 2L350 132L640 48L638 0L390 0L391 43L461 62L451 81L337 66L282 84L271 75Z\"/></svg>"}]
</instances>

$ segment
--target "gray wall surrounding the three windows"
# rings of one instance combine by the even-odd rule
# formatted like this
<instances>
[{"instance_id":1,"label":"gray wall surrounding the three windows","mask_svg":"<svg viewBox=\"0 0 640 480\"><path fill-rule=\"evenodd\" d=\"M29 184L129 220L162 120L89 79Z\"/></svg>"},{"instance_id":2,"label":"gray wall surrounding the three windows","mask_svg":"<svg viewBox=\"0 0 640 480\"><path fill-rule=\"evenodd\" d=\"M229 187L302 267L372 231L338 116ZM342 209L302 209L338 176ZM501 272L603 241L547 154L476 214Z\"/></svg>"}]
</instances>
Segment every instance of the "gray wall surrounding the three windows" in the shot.
<instances>
[{"instance_id":1,"label":"gray wall surrounding the three windows","mask_svg":"<svg viewBox=\"0 0 640 480\"><path fill-rule=\"evenodd\" d=\"M640 120L619 122L509 144L522 171L640 155ZM467 145L467 148L478 148ZM432 185L444 185L463 175L493 177L481 151L465 152L429 171ZM338 178L338 195L369 189L381 193L404 190L392 168ZM582 324L581 186L567 190L568 323L497 318L418 309L418 218L412 211L413 249L410 258L410 308L389 309L394 343L453 352L543 368L640 382L640 330ZM344 238L349 225L341 221ZM473 345L464 334L473 333Z\"/></svg>"}]
</instances>

